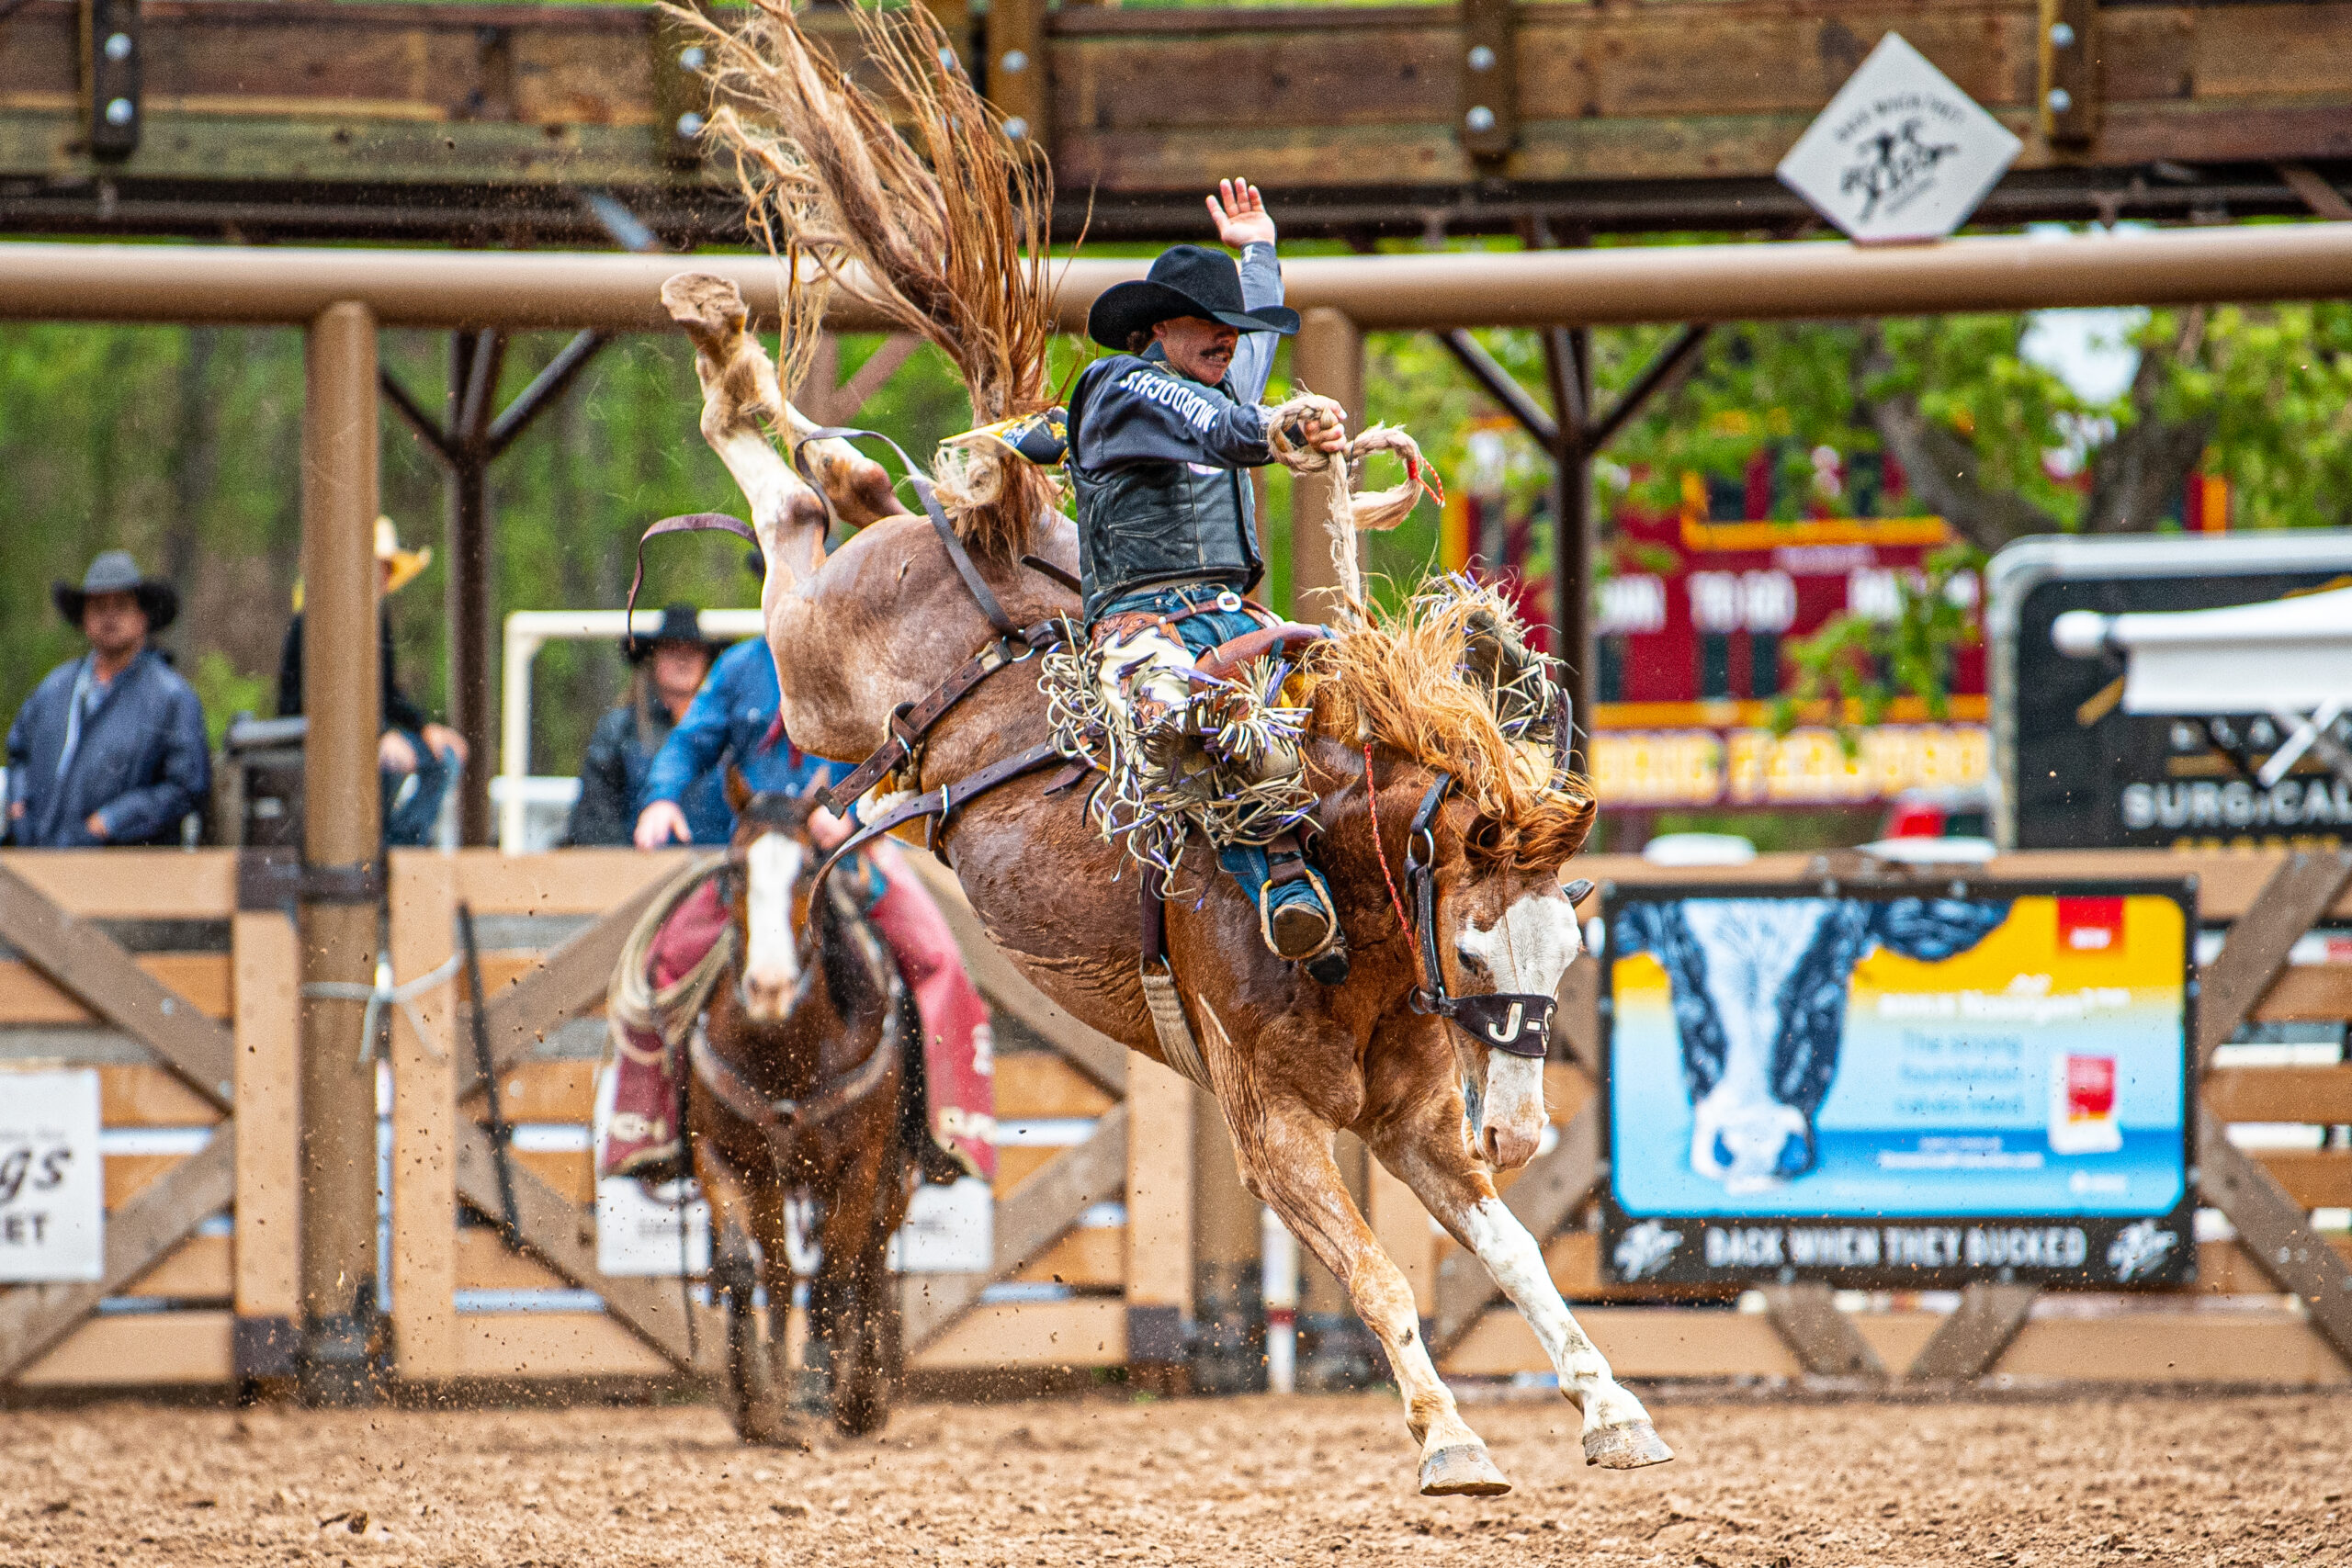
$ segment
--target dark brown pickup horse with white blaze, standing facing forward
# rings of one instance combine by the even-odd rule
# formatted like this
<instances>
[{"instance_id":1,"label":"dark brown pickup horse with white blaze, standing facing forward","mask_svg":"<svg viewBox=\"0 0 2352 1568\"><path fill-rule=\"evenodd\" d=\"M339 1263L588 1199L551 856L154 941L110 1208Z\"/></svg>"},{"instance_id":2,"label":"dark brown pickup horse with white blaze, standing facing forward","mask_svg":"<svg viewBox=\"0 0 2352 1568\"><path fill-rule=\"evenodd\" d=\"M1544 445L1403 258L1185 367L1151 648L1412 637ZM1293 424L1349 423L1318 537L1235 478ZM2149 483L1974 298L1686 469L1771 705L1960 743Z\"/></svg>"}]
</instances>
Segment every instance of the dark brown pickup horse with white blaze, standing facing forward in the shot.
<instances>
[{"instance_id":1,"label":"dark brown pickup horse with white blaze, standing facing forward","mask_svg":"<svg viewBox=\"0 0 2352 1568\"><path fill-rule=\"evenodd\" d=\"M729 769L727 804L736 835L720 898L734 959L689 1046L687 1128L722 1234L713 1276L729 1307L736 1432L755 1443L797 1441L783 1326L793 1300L786 1201L800 1192L823 1251L809 1281L811 1363L830 1373L833 1422L866 1434L889 1418L898 1382L898 1293L884 1248L920 1166L910 1138L929 1138L915 1001L851 900L854 879L835 875L816 893L814 795L753 795ZM760 1241L764 1342L750 1258L731 1244L743 1232Z\"/></svg>"}]
</instances>

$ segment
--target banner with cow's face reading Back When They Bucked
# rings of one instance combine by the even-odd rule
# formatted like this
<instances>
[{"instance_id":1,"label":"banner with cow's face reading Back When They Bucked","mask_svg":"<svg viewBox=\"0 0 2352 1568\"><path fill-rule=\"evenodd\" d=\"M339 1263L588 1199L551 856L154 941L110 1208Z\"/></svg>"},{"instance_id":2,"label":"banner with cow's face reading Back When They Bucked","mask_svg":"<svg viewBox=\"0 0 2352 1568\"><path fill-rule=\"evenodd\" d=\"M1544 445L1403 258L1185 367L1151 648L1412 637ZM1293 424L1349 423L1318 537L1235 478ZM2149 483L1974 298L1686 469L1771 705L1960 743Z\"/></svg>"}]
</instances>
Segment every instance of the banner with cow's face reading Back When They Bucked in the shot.
<instances>
[{"instance_id":1,"label":"banner with cow's face reading Back When They Bucked","mask_svg":"<svg viewBox=\"0 0 2352 1568\"><path fill-rule=\"evenodd\" d=\"M2171 1286L2187 884L1611 889L1616 1281Z\"/></svg>"}]
</instances>

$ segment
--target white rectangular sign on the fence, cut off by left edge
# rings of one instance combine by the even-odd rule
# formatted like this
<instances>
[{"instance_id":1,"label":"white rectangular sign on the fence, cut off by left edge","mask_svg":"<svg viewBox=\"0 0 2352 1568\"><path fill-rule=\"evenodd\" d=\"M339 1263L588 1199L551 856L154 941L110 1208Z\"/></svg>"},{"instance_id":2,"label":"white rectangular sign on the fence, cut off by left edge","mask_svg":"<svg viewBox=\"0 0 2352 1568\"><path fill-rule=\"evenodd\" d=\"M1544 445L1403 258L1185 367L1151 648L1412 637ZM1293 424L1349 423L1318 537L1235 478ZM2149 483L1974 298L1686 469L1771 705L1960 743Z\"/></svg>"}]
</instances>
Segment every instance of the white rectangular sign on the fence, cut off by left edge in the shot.
<instances>
[{"instance_id":1,"label":"white rectangular sign on the fence, cut off by left edge","mask_svg":"<svg viewBox=\"0 0 2352 1568\"><path fill-rule=\"evenodd\" d=\"M0 1077L0 1279L103 1279L99 1074Z\"/></svg>"}]
</instances>

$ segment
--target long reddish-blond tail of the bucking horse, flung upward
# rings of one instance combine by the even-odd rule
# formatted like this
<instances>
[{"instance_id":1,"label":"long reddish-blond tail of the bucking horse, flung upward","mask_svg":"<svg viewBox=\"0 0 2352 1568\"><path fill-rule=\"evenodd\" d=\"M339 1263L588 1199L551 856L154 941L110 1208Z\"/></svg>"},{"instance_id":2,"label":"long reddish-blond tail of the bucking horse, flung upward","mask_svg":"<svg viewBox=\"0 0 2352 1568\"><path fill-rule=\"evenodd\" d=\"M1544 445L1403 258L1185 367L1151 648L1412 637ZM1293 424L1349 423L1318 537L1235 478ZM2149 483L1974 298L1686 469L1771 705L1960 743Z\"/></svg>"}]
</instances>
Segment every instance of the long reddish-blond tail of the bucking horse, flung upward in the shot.
<instances>
[{"instance_id":1,"label":"long reddish-blond tail of the bucking horse, flung upward","mask_svg":"<svg viewBox=\"0 0 2352 1568\"><path fill-rule=\"evenodd\" d=\"M844 7L858 66L880 82L868 92L800 31L788 0L750 0L739 28L663 9L710 45L717 108L703 134L734 153L750 228L790 268L786 357L816 343L840 287L955 362L976 425L1049 407L1054 174L1004 134L931 12ZM1047 470L1002 458L995 442L943 444L936 468L974 550L1035 548L1056 505Z\"/></svg>"}]
</instances>

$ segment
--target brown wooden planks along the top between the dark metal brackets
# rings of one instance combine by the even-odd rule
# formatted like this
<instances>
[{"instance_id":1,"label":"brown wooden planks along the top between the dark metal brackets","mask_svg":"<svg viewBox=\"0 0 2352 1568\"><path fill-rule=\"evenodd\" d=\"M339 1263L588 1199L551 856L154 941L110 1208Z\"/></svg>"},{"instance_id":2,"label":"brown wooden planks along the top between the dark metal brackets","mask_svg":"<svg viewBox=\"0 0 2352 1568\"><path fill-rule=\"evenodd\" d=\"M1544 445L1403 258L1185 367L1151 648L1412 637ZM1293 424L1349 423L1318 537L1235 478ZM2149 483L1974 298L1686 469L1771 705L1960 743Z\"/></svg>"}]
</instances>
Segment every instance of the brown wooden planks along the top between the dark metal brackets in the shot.
<instances>
[{"instance_id":1,"label":"brown wooden planks along the top between the dark metal brackets","mask_svg":"<svg viewBox=\"0 0 2352 1568\"><path fill-rule=\"evenodd\" d=\"M146 129L101 169L80 146L75 7L14 9L0 176L724 188L673 160L675 113L656 103L677 89L656 82L652 7L165 0L141 14ZM2089 141L2044 127L2039 0L1552 2L1515 19L1519 139L1484 162L1454 129L1451 5L1040 0L1000 5L971 38L1058 183L1101 195L1197 190L1232 169L1364 193L1769 176L1891 28L2025 136L2020 169L2352 155L2352 5L2333 0L2100 7ZM809 26L847 45L840 16Z\"/></svg>"}]
</instances>

